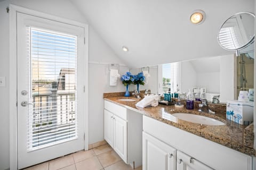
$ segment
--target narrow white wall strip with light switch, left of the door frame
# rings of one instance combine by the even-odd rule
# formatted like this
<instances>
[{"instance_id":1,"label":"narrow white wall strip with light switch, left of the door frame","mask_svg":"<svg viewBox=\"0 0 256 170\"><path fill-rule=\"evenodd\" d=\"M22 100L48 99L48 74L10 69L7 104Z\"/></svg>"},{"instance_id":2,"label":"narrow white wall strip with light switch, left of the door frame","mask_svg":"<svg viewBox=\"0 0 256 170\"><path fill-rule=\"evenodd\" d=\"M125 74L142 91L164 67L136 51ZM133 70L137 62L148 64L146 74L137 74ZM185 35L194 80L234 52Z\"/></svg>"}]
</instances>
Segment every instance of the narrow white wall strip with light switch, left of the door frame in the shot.
<instances>
[{"instance_id":1,"label":"narrow white wall strip with light switch, left of the door frame","mask_svg":"<svg viewBox=\"0 0 256 170\"><path fill-rule=\"evenodd\" d=\"M0 169L9 168L9 14L0 2L0 77L6 77L6 86L0 87Z\"/></svg>"}]
</instances>

